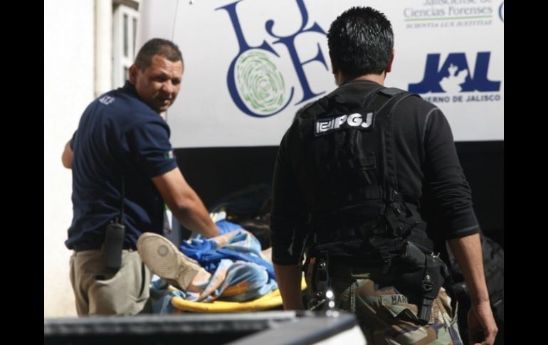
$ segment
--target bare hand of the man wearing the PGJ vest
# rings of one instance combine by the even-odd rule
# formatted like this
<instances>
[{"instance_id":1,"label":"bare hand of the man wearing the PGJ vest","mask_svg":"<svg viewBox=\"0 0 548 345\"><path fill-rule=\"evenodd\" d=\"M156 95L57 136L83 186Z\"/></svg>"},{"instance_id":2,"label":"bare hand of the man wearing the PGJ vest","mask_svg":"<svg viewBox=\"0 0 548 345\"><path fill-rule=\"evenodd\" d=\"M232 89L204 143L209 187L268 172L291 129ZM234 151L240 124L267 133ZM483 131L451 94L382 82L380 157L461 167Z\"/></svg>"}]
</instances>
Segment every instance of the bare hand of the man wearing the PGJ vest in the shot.
<instances>
[{"instance_id":1,"label":"bare hand of the man wearing the PGJ vest","mask_svg":"<svg viewBox=\"0 0 548 345\"><path fill-rule=\"evenodd\" d=\"M489 302L472 306L468 311L468 342L470 345L492 345L498 328Z\"/></svg>"}]
</instances>

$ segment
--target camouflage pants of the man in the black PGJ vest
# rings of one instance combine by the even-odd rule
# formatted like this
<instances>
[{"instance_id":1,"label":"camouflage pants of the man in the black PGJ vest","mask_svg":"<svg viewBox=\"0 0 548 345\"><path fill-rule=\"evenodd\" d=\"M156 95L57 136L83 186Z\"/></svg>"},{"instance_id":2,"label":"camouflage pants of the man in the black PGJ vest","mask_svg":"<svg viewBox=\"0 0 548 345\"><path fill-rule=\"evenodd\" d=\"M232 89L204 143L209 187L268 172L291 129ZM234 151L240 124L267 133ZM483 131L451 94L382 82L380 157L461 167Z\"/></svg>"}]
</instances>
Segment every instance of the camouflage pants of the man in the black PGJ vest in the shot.
<instances>
[{"instance_id":1,"label":"camouflage pants of the man in the black PGJ vest","mask_svg":"<svg viewBox=\"0 0 548 345\"><path fill-rule=\"evenodd\" d=\"M430 322L423 325L416 304L395 287L379 288L370 278L331 281L337 307L356 314L369 344L463 344L443 287L433 301Z\"/></svg>"}]
</instances>

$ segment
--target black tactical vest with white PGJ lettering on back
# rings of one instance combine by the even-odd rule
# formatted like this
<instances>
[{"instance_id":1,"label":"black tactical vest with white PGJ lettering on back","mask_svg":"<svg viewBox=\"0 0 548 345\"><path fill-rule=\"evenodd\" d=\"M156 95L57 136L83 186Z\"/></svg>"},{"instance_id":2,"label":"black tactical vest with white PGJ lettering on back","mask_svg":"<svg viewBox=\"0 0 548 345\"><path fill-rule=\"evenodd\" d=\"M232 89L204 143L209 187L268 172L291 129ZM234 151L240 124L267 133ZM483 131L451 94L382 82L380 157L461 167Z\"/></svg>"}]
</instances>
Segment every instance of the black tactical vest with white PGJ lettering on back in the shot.
<instances>
[{"instance_id":1,"label":"black tactical vest with white PGJ lettering on back","mask_svg":"<svg viewBox=\"0 0 548 345\"><path fill-rule=\"evenodd\" d=\"M297 118L315 244L361 239L365 246L357 253L381 256L401 250L406 240L432 249L418 201L398 191L392 113L410 96L417 95L386 87L359 104L326 96ZM349 252L334 245L337 250Z\"/></svg>"}]
</instances>

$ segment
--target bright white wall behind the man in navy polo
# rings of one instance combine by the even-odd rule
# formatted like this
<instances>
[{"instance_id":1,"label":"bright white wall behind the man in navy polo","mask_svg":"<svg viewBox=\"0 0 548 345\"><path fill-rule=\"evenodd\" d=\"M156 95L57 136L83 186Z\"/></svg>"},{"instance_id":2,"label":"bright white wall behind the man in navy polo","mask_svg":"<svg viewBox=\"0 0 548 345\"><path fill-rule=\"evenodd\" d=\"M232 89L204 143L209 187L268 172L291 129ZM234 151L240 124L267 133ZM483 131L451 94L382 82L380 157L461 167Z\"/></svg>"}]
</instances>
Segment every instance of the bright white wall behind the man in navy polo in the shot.
<instances>
[{"instance_id":1,"label":"bright white wall behind the man in navy polo","mask_svg":"<svg viewBox=\"0 0 548 345\"><path fill-rule=\"evenodd\" d=\"M94 1L44 1L44 317L76 314L64 241L72 177L60 156L93 100Z\"/></svg>"}]
</instances>

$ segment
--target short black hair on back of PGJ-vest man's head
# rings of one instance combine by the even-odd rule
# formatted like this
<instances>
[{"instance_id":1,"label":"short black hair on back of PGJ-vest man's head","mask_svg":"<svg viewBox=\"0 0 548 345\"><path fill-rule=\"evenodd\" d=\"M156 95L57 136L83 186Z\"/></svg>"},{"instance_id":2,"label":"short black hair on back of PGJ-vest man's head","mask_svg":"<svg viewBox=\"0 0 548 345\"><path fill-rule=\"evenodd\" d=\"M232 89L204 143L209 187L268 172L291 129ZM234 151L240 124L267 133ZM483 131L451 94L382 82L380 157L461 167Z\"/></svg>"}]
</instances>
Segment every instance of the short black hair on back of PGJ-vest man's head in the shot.
<instances>
[{"instance_id":1,"label":"short black hair on back of PGJ-vest man's head","mask_svg":"<svg viewBox=\"0 0 548 345\"><path fill-rule=\"evenodd\" d=\"M344 75L381 74L394 48L394 33L381 12L352 7L331 23L327 45L332 63Z\"/></svg>"}]
</instances>

